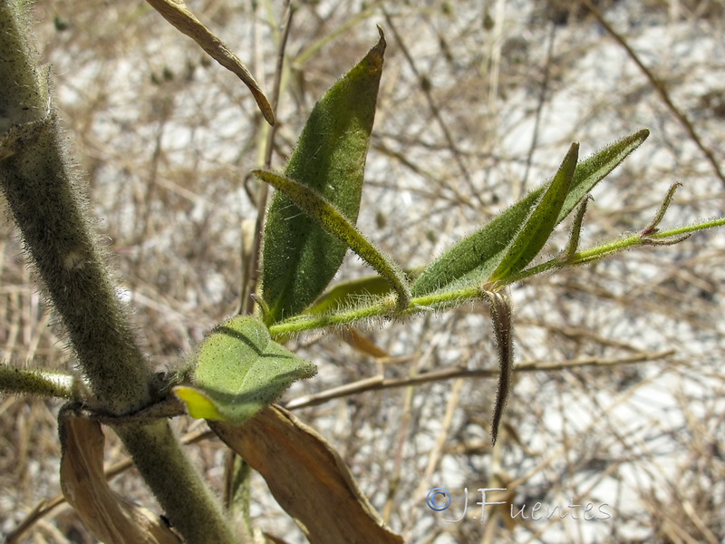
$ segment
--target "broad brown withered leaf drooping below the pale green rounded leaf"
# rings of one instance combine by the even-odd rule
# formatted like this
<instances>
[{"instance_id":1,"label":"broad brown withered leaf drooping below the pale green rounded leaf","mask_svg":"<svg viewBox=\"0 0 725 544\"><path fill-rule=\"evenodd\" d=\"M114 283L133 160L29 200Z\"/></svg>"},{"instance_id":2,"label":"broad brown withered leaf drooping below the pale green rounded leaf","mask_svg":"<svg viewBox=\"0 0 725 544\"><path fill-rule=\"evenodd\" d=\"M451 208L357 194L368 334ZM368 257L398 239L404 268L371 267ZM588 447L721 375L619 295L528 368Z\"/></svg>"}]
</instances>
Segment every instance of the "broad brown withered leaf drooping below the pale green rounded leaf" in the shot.
<instances>
[{"instance_id":1,"label":"broad brown withered leaf drooping below the pale green rounded leaf","mask_svg":"<svg viewBox=\"0 0 725 544\"><path fill-rule=\"evenodd\" d=\"M244 425L211 430L265 478L285 511L315 544L401 544L323 437L272 404Z\"/></svg>"}]
</instances>

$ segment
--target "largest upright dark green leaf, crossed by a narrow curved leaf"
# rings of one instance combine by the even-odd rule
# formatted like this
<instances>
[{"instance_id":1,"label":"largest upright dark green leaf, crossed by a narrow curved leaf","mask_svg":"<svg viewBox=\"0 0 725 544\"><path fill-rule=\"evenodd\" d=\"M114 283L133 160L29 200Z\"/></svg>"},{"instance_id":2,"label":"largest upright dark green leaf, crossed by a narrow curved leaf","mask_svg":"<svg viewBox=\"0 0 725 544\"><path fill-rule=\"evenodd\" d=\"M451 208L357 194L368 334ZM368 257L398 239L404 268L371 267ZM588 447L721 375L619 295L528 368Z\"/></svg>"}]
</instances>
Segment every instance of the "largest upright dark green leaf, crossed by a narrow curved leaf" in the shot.
<instances>
[{"instance_id":1,"label":"largest upright dark green leaf, crossed by a narrow curved leaf","mask_svg":"<svg viewBox=\"0 0 725 544\"><path fill-rule=\"evenodd\" d=\"M285 176L357 220L385 40L324 94L310 114ZM277 193L267 212L262 289L267 323L299 314L324 291L343 262L347 245Z\"/></svg>"}]
</instances>

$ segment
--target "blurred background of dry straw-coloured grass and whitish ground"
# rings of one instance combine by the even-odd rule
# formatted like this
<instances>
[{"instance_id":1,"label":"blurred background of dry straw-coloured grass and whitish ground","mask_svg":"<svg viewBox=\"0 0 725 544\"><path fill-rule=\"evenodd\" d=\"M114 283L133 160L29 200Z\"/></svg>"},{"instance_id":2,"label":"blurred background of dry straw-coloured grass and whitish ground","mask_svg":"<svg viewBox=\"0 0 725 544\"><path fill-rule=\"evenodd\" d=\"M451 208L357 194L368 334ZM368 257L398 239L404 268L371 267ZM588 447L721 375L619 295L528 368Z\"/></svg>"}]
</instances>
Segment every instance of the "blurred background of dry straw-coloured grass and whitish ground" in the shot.
<instances>
[{"instance_id":1,"label":"blurred background of dry straw-coloured grass and whitish ground","mask_svg":"<svg viewBox=\"0 0 725 544\"><path fill-rule=\"evenodd\" d=\"M594 11L558 0L293 4L273 167L284 167L314 102L377 42L380 24L388 49L358 225L406 267L548 180L572 141L585 157L641 128L649 140L594 189L582 247L642 229L675 182L662 228L723 215L722 0L603 0ZM188 5L271 94L287 4ZM247 88L143 2L38 0L34 16L120 294L154 364L173 369L239 304L242 239L257 214L248 172L269 129ZM72 369L6 209L4 218L2 358ZM565 247L569 226L546 256ZM283 401L400 379L295 415L341 453L407 542L722 542L723 257L725 233L711 230L512 287L521 372L493 451L495 377L405 386L433 371L497 370L483 304L362 326L377 349L368 353L339 335L301 336L290 346L319 374ZM337 279L371 273L349 255ZM64 505L12 532L59 493L59 407L0 397L8 541L93 542ZM204 429L174 424L185 436ZM124 459L111 434L109 463ZM223 445L189 452L220 488ZM134 471L112 486L158 508ZM264 481L254 486L256 525L304 541ZM433 488L449 493L447 510L427 504ZM481 520L485 488L507 491L487 493L505 504ZM512 519L509 506L523 515Z\"/></svg>"}]
</instances>

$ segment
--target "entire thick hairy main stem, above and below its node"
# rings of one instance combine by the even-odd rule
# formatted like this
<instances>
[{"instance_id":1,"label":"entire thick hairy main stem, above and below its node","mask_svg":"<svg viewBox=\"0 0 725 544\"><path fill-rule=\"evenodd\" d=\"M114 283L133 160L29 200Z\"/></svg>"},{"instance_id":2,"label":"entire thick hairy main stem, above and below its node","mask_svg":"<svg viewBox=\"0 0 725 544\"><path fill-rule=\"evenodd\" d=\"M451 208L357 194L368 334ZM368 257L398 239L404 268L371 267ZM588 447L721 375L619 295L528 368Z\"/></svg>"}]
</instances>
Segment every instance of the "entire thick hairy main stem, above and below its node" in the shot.
<instances>
[{"instance_id":1,"label":"entire thick hairy main stem, above and below its node","mask_svg":"<svg viewBox=\"0 0 725 544\"><path fill-rule=\"evenodd\" d=\"M22 5L0 0L0 188L92 391L84 401L96 412L134 413L151 402L150 366L91 234L80 176L63 146L48 72L35 66ZM114 428L189 544L236 541L166 420Z\"/></svg>"}]
</instances>

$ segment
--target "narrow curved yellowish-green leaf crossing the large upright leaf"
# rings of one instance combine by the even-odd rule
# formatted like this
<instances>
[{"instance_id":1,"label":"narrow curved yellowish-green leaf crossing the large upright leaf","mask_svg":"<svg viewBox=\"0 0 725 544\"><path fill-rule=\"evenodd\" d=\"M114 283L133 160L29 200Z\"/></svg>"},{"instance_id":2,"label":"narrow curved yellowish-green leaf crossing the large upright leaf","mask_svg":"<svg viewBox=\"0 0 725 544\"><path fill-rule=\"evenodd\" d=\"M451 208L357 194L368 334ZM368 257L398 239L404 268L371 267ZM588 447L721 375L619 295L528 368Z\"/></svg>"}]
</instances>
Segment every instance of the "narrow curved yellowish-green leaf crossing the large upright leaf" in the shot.
<instances>
[{"instance_id":1,"label":"narrow curved yellowish-green leaf crossing the large upright leaf","mask_svg":"<svg viewBox=\"0 0 725 544\"><path fill-rule=\"evenodd\" d=\"M253 170L252 173L277 189L277 194L284 193L307 217L313 219L319 228L341 240L346 248L353 249L362 260L375 268L395 291L398 310L408 307L411 302L411 288L402 268L391 257L378 249L372 241L365 238L341 211L317 194L314 189L295 180L267 170Z\"/></svg>"}]
</instances>

